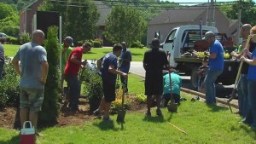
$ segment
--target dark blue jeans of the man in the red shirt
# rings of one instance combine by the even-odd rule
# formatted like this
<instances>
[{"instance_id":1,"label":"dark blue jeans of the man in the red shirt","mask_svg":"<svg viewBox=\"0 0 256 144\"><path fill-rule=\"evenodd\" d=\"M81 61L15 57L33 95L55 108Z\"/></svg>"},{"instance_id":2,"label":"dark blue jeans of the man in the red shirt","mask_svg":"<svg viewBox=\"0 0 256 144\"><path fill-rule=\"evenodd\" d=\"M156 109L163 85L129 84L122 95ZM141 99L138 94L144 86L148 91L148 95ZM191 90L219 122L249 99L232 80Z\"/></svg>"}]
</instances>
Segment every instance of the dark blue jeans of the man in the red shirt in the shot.
<instances>
[{"instance_id":1,"label":"dark blue jeans of the man in the red shirt","mask_svg":"<svg viewBox=\"0 0 256 144\"><path fill-rule=\"evenodd\" d=\"M78 76L65 75L65 80L70 89L70 106L73 110L79 108L80 84Z\"/></svg>"}]
</instances>

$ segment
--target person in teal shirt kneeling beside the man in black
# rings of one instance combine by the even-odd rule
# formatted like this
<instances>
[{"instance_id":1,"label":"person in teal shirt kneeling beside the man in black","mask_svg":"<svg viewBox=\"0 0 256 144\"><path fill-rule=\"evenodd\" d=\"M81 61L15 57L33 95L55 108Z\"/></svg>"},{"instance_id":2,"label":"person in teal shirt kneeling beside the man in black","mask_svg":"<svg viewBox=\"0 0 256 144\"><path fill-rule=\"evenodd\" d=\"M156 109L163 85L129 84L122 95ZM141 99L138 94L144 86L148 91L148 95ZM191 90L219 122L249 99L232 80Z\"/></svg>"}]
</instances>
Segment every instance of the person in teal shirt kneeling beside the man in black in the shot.
<instances>
[{"instance_id":1,"label":"person in teal shirt kneeling beside the man in black","mask_svg":"<svg viewBox=\"0 0 256 144\"><path fill-rule=\"evenodd\" d=\"M182 78L175 73L174 69L171 70L171 81L172 81L172 97L174 102L179 105L180 103L180 87L182 85ZM166 107L168 102L171 100L171 87L169 73L164 75L164 92L162 95L161 107Z\"/></svg>"}]
</instances>

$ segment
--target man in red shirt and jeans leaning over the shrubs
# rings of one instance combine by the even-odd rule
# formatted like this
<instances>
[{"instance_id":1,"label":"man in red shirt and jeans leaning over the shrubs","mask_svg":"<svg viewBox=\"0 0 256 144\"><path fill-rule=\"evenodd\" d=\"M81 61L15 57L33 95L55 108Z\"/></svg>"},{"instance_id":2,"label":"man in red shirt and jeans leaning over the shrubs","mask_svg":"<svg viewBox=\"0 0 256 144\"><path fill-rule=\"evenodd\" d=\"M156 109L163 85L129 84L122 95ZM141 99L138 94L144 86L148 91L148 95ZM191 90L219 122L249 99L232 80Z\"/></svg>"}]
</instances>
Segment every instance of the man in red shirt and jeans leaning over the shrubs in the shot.
<instances>
[{"instance_id":1,"label":"man in red shirt and jeans leaning over the shrubs","mask_svg":"<svg viewBox=\"0 0 256 144\"><path fill-rule=\"evenodd\" d=\"M67 65L64 70L65 80L70 88L70 101L69 107L76 112L79 110L79 96L80 96L80 84L79 84L79 68L85 66L87 61L82 61L82 55L89 52L91 44L85 42L82 47L76 47L72 50L68 56Z\"/></svg>"}]
</instances>

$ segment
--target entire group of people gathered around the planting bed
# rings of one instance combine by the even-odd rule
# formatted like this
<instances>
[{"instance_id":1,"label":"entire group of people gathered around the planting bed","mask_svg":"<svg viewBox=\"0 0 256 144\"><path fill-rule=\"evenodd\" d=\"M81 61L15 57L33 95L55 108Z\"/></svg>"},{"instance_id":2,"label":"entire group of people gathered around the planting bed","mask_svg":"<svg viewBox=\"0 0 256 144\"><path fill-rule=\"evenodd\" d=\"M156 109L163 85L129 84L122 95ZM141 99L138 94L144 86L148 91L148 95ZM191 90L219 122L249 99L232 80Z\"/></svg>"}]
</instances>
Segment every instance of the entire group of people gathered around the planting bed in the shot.
<instances>
[{"instance_id":1,"label":"entire group of people gathered around the planting bed","mask_svg":"<svg viewBox=\"0 0 256 144\"><path fill-rule=\"evenodd\" d=\"M245 41L243 41L241 55L235 53L232 53L232 55L240 58L245 63L242 67L238 87L238 91L240 91L239 113L244 118L243 123L256 128L256 106L254 105L256 102L254 96L256 93L256 50L253 50L256 45L254 44L256 43L256 26L252 27L246 24L241 27L241 36L246 39L248 35L252 36L250 49L245 49ZM199 70L201 74L199 85L204 84L204 87L200 86L200 89L206 89L207 104L214 104L216 103L214 83L224 69L224 49L221 43L215 39L213 32L206 32L203 39L210 43L210 49L207 53L208 59L202 61L203 66ZM35 130L37 130L38 112L41 110L44 101L44 84L46 84L49 67L47 52L42 46L43 43L44 32L41 30L32 32L32 42L20 46L12 60L15 72L20 75L20 123L23 124L29 116ZM73 38L66 37L61 49L63 66L61 68L61 88L65 79L72 95L69 101L70 107L73 111L77 111L80 95L78 72L80 67L84 67L87 63L86 60L82 61L82 55L89 52L92 46L88 42L85 42L82 47L72 49L70 46L73 46ZM1 49L2 46L0 45L0 51ZM119 56L121 59L118 62ZM127 49L125 42L114 44L112 52L97 60L97 68L102 76L104 96L94 113L97 115L103 113L103 120L112 121L109 118L109 109L111 102L115 100L117 75L121 76L120 79L124 84L125 92L128 92L127 78L130 66L131 52ZM165 106L171 95L174 98L173 102L179 103L182 80L170 68L166 52L160 49L159 39L154 38L152 49L145 52L143 67L146 70L145 95L147 95L148 107L146 115L151 116L151 104L153 98L155 98L157 101L156 114L162 116L160 105L162 103ZM168 69L171 73L163 75L163 69Z\"/></svg>"}]
</instances>

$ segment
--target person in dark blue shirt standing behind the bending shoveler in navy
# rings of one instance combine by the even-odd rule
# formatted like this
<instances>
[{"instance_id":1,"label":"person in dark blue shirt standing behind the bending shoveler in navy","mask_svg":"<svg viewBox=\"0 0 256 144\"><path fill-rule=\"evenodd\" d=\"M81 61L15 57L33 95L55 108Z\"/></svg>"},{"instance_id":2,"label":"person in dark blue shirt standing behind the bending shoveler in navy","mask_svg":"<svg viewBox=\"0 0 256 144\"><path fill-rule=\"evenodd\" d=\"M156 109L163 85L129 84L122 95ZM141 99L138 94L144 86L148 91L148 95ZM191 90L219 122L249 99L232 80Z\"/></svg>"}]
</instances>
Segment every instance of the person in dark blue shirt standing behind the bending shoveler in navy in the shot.
<instances>
[{"instance_id":1,"label":"person in dark blue shirt standing behind the bending shoveler in navy","mask_svg":"<svg viewBox=\"0 0 256 144\"><path fill-rule=\"evenodd\" d=\"M129 73L131 66L131 51L127 49L127 45L125 42L122 42L123 46L122 54L119 60L119 71ZM128 93L128 78L124 78L120 76L121 83L125 85L125 93Z\"/></svg>"}]
</instances>

